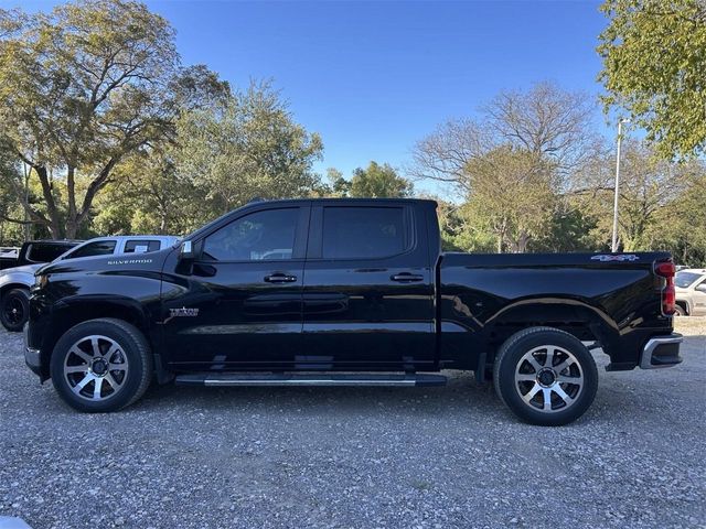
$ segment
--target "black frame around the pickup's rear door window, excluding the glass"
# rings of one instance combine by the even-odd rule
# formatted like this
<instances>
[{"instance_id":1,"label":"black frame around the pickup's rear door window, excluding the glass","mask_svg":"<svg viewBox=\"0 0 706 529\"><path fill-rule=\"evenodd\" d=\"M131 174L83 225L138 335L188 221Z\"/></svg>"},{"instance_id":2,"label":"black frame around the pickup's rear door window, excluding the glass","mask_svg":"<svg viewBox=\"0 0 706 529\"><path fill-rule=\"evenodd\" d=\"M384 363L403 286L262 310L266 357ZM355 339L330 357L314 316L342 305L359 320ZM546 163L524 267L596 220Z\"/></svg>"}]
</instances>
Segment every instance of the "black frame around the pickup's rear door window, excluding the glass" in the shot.
<instances>
[{"instance_id":1,"label":"black frame around the pickup's rear door window, excluding the glass","mask_svg":"<svg viewBox=\"0 0 706 529\"><path fill-rule=\"evenodd\" d=\"M403 225L404 225L404 244L405 249L398 253L392 253L389 256L381 257L346 257L346 258L324 258L323 257L323 209L327 207L340 207L340 208L402 208L403 209ZM307 260L320 260L320 261L381 261L386 259L394 259L399 256L406 256L414 252L417 249L419 236L416 230L415 213L411 207L406 204L392 204L392 205L368 205L368 204L322 204L311 208L311 229L309 235L309 246L307 248Z\"/></svg>"}]
</instances>

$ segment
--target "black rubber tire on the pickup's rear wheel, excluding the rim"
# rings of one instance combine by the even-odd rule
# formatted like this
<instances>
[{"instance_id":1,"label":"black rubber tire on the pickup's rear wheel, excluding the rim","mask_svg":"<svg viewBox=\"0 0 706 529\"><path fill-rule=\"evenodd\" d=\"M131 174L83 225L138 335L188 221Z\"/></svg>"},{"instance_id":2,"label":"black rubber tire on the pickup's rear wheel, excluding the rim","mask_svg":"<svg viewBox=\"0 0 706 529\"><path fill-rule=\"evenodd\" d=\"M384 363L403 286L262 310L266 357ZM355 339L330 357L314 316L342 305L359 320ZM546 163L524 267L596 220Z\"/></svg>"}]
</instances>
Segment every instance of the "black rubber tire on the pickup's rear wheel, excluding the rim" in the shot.
<instances>
[{"instance_id":1,"label":"black rubber tire on the pickup's rear wheel, excluding the rim","mask_svg":"<svg viewBox=\"0 0 706 529\"><path fill-rule=\"evenodd\" d=\"M566 410L554 413L544 413L527 404L515 389L517 363L525 353L543 345L555 345L570 352L584 374L578 400ZM518 338L503 352L498 370L498 389L504 403L523 421L538 425L563 425L578 419L590 408L598 389L598 369L591 353L579 339L561 331L542 330Z\"/></svg>"}]
</instances>

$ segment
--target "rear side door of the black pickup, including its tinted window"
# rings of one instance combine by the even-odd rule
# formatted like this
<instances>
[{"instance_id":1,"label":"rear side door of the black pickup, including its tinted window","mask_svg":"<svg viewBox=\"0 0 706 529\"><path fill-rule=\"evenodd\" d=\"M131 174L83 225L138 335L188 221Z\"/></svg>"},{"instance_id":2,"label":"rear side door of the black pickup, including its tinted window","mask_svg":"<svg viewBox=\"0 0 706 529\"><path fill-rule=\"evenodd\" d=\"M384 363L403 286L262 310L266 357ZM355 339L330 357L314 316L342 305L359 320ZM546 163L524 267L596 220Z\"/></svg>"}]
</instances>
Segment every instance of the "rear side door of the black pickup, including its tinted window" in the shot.
<instances>
[{"instance_id":1,"label":"rear side door of the black pickup, including its tinted window","mask_svg":"<svg viewBox=\"0 0 706 529\"><path fill-rule=\"evenodd\" d=\"M299 368L424 369L435 355L434 270L409 203L312 207Z\"/></svg>"}]
</instances>

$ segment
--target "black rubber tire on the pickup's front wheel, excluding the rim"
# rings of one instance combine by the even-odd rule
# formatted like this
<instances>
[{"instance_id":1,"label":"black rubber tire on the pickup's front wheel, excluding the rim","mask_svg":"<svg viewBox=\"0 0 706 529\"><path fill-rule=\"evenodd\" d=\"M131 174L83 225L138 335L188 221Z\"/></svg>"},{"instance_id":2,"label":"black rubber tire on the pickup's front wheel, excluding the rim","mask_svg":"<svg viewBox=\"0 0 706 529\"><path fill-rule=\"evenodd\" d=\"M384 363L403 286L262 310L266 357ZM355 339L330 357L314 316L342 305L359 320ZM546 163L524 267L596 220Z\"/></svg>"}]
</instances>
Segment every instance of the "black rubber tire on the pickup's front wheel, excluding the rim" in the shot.
<instances>
[{"instance_id":1,"label":"black rubber tire on the pickup's front wheel, excluding the rim","mask_svg":"<svg viewBox=\"0 0 706 529\"><path fill-rule=\"evenodd\" d=\"M128 361L127 380L115 395L99 402L92 402L75 395L64 377L64 360L69 348L79 339L89 335L103 335L118 343ZM140 345L124 328L109 321L86 322L69 328L54 346L50 369L52 384L60 397L72 408L86 412L116 411L129 404L140 388L145 370L148 367L140 354Z\"/></svg>"}]
</instances>

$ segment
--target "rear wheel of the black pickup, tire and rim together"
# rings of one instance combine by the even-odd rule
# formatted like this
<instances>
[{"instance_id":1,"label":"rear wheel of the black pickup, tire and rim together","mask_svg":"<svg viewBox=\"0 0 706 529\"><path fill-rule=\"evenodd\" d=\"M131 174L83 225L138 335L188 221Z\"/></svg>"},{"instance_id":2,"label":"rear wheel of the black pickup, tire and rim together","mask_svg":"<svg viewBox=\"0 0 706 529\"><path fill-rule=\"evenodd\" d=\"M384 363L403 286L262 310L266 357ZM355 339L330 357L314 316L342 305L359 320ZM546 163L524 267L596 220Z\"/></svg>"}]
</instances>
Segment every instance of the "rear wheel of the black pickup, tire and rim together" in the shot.
<instances>
[{"instance_id":1,"label":"rear wheel of the black pickup, tire and rim together","mask_svg":"<svg viewBox=\"0 0 706 529\"><path fill-rule=\"evenodd\" d=\"M558 427L590 408L598 369L575 336L558 328L532 327L515 333L500 347L493 382L498 396L521 420Z\"/></svg>"}]
</instances>

